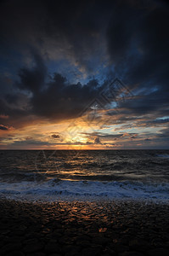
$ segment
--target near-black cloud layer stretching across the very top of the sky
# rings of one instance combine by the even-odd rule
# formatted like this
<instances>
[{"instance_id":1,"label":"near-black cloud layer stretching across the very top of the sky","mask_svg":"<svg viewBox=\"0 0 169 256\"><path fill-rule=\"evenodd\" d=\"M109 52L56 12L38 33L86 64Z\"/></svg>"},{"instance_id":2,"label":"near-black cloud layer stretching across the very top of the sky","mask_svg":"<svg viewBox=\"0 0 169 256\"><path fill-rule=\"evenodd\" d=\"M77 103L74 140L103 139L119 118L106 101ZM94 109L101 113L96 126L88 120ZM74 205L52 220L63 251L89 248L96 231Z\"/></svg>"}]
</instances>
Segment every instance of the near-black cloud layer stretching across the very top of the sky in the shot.
<instances>
[{"instance_id":1,"label":"near-black cloud layer stretching across the very top of the sky","mask_svg":"<svg viewBox=\"0 0 169 256\"><path fill-rule=\"evenodd\" d=\"M22 55L29 55L31 47L48 60L64 56L91 75L108 53L110 63L106 65L115 67L131 86L136 82L146 81L146 86L153 80L164 82L169 19L168 5L162 3L153 0L3 1L2 55L14 55L8 51L11 44L15 50L21 49ZM25 76L24 70L22 75Z\"/></svg>"}]
</instances>

